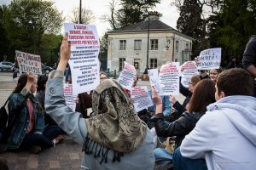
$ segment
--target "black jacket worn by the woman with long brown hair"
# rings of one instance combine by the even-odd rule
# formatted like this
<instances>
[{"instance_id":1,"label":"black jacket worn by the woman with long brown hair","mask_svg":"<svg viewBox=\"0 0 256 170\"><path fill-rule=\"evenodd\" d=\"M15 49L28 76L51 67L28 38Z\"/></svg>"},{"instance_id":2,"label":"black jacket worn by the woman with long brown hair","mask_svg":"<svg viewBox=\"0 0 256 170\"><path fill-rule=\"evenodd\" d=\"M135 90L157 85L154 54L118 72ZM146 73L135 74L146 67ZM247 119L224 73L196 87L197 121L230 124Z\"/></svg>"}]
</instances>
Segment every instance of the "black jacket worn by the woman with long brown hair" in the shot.
<instances>
[{"instance_id":1,"label":"black jacket worn by the woman with long brown hair","mask_svg":"<svg viewBox=\"0 0 256 170\"><path fill-rule=\"evenodd\" d=\"M185 135L189 134L195 127L196 122L205 112L183 112L174 122L165 122L163 114L156 114L153 118L157 136L172 137L176 136L176 148L182 143Z\"/></svg>"}]
</instances>

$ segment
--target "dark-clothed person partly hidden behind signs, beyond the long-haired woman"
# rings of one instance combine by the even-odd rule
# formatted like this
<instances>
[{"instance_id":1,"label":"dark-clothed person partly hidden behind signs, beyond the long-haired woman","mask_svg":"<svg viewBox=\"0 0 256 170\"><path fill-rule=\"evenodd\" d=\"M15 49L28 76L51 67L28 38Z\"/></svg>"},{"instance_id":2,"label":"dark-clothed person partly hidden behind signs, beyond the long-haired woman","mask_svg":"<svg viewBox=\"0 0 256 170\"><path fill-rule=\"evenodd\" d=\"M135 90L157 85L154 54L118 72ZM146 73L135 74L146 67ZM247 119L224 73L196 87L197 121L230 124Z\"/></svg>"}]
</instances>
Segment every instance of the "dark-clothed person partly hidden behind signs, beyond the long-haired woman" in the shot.
<instances>
[{"instance_id":1,"label":"dark-clothed person partly hidden behind signs, beyond the long-haired woman","mask_svg":"<svg viewBox=\"0 0 256 170\"><path fill-rule=\"evenodd\" d=\"M170 101L172 103L172 107L176 110L176 112L172 114L172 116L168 117L166 121L173 122L179 116L181 116L181 114L183 114L184 111L188 110L189 101L195 90L195 86L200 81L201 79L197 75L191 77L189 82L189 89L185 88L181 82L179 83L179 93L183 94L183 96L185 96L186 99L184 99L183 105L181 105L173 95L170 95Z\"/></svg>"}]
</instances>

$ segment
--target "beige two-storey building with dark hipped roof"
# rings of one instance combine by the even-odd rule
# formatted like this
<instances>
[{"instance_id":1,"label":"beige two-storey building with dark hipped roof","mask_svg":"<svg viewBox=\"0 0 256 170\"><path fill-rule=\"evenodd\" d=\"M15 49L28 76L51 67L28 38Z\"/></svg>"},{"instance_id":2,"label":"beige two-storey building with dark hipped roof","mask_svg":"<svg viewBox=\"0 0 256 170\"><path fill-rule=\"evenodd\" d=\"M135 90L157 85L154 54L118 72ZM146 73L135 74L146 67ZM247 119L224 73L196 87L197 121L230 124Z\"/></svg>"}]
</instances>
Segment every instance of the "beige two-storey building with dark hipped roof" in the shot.
<instances>
[{"instance_id":1,"label":"beige two-storey building with dark hipped roof","mask_svg":"<svg viewBox=\"0 0 256 170\"><path fill-rule=\"evenodd\" d=\"M149 37L148 37L149 35ZM148 68L160 68L171 61L183 64L190 60L192 37L161 22L157 16L117 31L108 31L108 68L122 71L124 61L134 65L141 74Z\"/></svg>"}]
</instances>

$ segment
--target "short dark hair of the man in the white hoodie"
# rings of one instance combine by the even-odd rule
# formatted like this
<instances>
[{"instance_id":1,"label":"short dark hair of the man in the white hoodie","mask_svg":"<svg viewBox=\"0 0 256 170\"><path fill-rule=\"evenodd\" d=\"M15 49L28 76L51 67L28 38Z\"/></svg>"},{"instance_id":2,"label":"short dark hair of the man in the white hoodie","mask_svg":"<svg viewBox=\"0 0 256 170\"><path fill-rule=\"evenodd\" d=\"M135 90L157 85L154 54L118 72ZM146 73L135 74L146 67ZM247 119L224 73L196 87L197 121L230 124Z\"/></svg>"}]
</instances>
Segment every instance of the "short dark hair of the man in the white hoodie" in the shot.
<instances>
[{"instance_id":1,"label":"short dark hair of the man in the white hoodie","mask_svg":"<svg viewBox=\"0 0 256 170\"><path fill-rule=\"evenodd\" d=\"M228 69L217 77L218 95L253 95L253 77L241 68Z\"/></svg>"}]
</instances>

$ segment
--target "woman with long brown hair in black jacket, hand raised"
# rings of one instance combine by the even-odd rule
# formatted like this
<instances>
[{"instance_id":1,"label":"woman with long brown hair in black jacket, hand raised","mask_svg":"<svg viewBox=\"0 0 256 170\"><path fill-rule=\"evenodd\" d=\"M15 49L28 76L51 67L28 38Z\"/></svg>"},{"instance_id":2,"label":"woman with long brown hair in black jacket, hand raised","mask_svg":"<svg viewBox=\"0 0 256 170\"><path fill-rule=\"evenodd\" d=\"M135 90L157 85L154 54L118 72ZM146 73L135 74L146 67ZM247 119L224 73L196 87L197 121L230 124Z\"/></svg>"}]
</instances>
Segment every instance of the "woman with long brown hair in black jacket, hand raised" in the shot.
<instances>
[{"instance_id":1,"label":"woman with long brown hair in black jacket, hand raised","mask_svg":"<svg viewBox=\"0 0 256 170\"><path fill-rule=\"evenodd\" d=\"M203 116L207 111L207 105L215 102L215 82L210 79L201 80L195 87L195 91L192 94L189 102L188 111L183 112L174 122L165 122L165 117L162 113L162 100L159 94L153 92L153 99L156 103L156 111L154 116L154 127L158 136L160 137L172 137L176 136L175 147L177 148L185 135L189 134L195 127L196 122ZM168 156L172 158L172 154L168 153L162 148L154 150L155 157Z\"/></svg>"}]
</instances>

